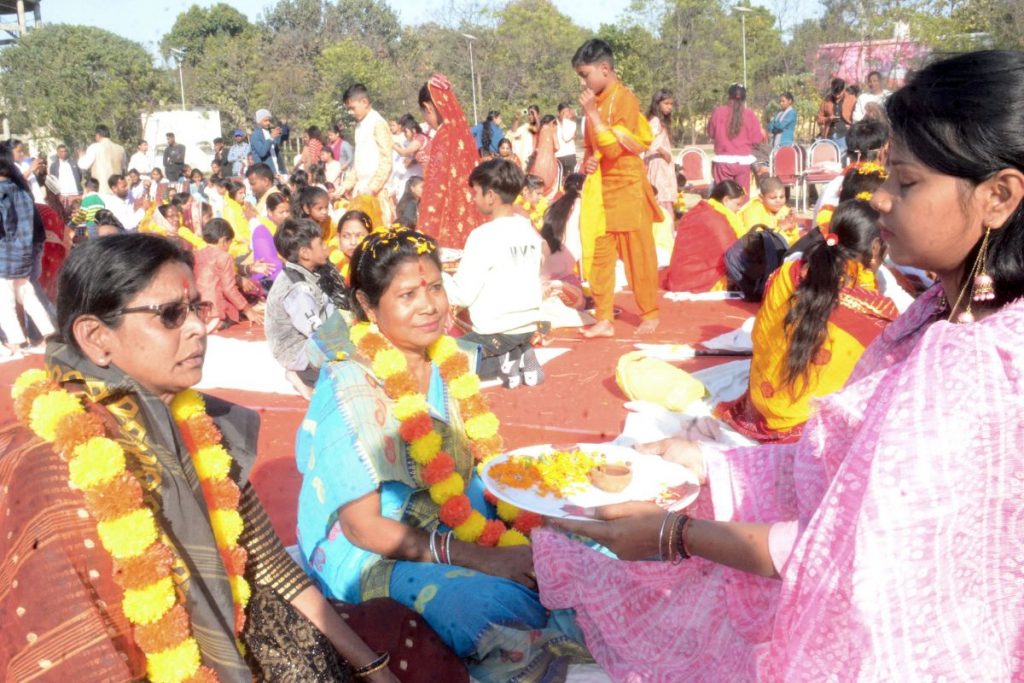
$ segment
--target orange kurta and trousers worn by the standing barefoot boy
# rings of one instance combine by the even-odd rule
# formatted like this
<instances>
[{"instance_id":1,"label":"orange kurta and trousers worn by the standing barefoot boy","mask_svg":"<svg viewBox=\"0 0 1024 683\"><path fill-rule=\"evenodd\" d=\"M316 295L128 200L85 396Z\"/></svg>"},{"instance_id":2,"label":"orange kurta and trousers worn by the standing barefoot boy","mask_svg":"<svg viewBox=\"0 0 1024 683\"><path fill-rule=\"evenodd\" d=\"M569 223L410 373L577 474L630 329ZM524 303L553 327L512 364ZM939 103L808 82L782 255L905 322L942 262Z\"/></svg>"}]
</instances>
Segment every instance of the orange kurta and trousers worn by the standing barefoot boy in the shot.
<instances>
[{"instance_id":1,"label":"orange kurta and trousers worn by the standing barefoot boy","mask_svg":"<svg viewBox=\"0 0 1024 683\"><path fill-rule=\"evenodd\" d=\"M599 321L611 321L615 261L621 257L643 319L657 317L657 255L652 225L660 220L657 198L647 180L643 152L650 131L636 95L614 81L597 95L601 121L609 130L587 126L586 158L600 160L605 232L594 241L589 280Z\"/></svg>"}]
</instances>

